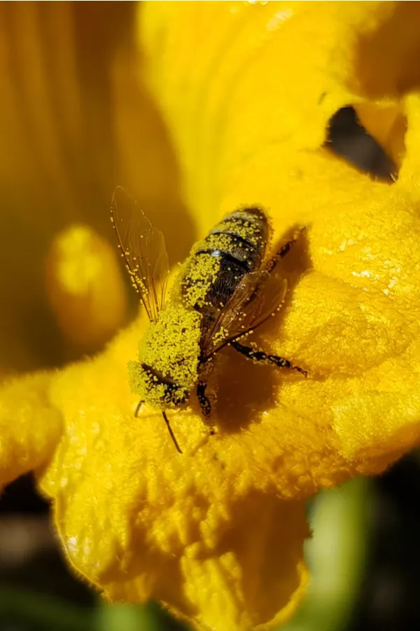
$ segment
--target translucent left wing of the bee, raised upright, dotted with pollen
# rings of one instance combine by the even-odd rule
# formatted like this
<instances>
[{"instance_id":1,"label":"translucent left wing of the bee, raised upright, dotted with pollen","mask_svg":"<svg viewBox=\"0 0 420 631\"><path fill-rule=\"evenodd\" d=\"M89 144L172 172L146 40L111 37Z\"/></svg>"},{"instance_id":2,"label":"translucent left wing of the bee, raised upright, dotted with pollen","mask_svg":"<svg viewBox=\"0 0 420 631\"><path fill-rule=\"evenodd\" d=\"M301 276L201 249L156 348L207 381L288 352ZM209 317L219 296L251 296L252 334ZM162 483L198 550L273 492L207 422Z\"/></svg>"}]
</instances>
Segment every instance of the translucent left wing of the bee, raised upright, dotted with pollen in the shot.
<instances>
[{"instance_id":1,"label":"translucent left wing of the bee, raised upright, dotted with pollen","mask_svg":"<svg viewBox=\"0 0 420 631\"><path fill-rule=\"evenodd\" d=\"M140 294L149 320L156 322L165 302L169 275L165 238L121 186L117 186L112 197L111 222L132 284Z\"/></svg>"}]
</instances>

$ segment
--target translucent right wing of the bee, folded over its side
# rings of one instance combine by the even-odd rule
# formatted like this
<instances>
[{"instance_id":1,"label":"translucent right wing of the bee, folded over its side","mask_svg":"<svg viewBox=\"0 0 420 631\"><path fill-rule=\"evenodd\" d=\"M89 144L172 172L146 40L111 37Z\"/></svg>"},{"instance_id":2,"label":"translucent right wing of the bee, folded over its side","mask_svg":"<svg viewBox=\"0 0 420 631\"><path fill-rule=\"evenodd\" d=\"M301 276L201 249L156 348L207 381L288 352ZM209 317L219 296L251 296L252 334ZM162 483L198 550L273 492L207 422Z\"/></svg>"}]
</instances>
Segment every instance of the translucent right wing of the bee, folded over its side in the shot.
<instances>
[{"instance_id":1,"label":"translucent right wing of the bee, folded over its side","mask_svg":"<svg viewBox=\"0 0 420 631\"><path fill-rule=\"evenodd\" d=\"M262 325L278 311L287 292L287 280L276 270L246 274L202 339L205 358L234 339Z\"/></svg>"}]
</instances>

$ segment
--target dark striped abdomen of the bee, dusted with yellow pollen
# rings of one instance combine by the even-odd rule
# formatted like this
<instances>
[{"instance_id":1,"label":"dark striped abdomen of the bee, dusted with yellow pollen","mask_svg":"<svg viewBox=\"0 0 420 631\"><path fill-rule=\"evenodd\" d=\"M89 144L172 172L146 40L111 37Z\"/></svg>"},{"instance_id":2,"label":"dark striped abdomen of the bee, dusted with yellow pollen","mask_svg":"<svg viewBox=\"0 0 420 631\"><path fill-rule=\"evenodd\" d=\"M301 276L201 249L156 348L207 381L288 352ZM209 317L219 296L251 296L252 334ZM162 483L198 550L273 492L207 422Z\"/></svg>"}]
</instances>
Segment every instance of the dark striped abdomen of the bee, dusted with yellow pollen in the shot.
<instances>
[{"instance_id":1,"label":"dark striped abdomen of the bee, dusted with yellow pollen","mask_svg":"<svg viewBox=\"0 0 420 631\"><path fill-rule=\"evenodd\" d=\"M268 238L267 217L260 208L225 217L188 257L181 280L183 299L213 320L241 278L260 268Z\"/></svg>"}]
</instances>

